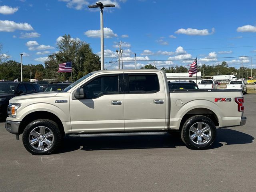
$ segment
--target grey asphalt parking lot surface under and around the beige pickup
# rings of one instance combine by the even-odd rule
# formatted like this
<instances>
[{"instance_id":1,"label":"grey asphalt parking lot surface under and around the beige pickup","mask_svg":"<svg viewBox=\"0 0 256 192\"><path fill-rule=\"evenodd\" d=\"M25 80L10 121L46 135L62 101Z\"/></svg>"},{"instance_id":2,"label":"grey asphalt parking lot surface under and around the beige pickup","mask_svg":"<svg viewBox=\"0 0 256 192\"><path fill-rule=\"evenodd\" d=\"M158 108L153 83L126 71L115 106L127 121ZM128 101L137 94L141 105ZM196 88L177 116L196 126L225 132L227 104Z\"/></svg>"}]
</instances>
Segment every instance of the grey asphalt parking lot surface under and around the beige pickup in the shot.
<instances>
[{"instance_id":1,"label":"grey asphalt parking lot surface under and around the beige pickup","mask_svg":"<svg viewBox=\"0 0 256 192\"><path fill-rule=\"evenodd\" d=\"M171 135L124 136L65 138L57 154L33 156L0 123L0 191L253 192L256 94L244 98L246 125L218 129L201 151Z\"/></svg>"}]
</instances>

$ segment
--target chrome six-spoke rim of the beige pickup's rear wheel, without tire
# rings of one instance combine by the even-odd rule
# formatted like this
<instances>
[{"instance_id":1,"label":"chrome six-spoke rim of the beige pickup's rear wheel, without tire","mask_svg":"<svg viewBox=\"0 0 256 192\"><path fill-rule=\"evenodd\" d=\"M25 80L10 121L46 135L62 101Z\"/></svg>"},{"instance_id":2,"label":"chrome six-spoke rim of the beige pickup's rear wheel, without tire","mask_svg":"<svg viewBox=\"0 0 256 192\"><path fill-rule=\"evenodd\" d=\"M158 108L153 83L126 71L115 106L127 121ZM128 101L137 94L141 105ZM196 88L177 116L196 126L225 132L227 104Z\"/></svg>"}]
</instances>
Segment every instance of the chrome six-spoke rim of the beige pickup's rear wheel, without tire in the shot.
<instances>
[{"instance_id":1,"label":"chrome six-spoke rim of the beige pickup's rear wheel, without tire","mask_svg":"<svg viewBox=\"0 0 256 192\"><path fill-rule=\"evenodd\" d=\"M198 145L208 143L212 138L210 126L204 122L196 122L189 129L189 138Z\"/></svg>"}]
</instances>

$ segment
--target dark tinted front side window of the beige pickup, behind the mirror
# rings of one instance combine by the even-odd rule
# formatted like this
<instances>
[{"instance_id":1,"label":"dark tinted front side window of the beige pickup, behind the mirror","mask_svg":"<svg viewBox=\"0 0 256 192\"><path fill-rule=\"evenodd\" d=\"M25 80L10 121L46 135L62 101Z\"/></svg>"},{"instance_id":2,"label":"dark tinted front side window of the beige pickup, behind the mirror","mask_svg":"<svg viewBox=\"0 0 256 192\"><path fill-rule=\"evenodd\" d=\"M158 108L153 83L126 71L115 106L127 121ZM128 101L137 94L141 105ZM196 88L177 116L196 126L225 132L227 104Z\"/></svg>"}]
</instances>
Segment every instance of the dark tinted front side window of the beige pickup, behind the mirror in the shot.
<instances>
[{"instance_id":1,"label":"dark tinted front side window of the beige pickup, behind the mirror","mask_svg":"<svg viewBox=\"0 0 256 192\"><path fill-rule=\"evenodd\" d=\"M83 86L87 99L106 94L118 94L118 75L101 76Z\"/></svg>"}]
</instances>

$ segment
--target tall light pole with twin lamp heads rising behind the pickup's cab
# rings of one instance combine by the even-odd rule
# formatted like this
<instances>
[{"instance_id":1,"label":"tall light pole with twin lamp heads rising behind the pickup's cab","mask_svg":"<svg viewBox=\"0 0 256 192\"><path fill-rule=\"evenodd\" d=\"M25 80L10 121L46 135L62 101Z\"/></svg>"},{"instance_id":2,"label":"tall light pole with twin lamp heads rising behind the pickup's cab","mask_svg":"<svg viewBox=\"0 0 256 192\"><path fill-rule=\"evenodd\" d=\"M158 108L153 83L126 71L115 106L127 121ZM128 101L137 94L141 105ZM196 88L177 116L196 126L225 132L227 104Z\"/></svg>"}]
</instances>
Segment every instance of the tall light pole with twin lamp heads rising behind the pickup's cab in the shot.
<instances>
[{"instance_id":1,"label":"tall light pole with twin lamp heads rising behind the pickup's cab","mask_svg":"<svg viewBox=\"0 0 256 192\"><path fill-rule=\"evenodd\" d=\"M103 34L103 8L114 7L114 4L103 5L102 2L96 2L96 5L89 5L88 8L100 8L100 48L101 48L101 70L104 70L104 34Z\"/></svg>"}]
</instances>

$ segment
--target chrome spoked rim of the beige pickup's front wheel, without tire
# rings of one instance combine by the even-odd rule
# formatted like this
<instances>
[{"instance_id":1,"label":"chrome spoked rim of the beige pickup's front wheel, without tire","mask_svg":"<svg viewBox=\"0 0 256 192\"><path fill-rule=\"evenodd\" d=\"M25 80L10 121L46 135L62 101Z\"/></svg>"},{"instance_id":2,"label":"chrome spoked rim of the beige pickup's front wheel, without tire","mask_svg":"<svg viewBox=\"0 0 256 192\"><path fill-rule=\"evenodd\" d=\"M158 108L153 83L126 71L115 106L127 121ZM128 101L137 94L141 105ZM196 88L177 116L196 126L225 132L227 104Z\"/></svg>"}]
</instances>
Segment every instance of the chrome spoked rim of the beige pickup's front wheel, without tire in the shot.
<instances>
[{"instance_id":1,"label":"chrome spoked rim of the beige pickup's front wheel, without tire","mask_svg":"<svg viewBox=\"0 0 256 192\"><path fill-rule=\"evenodd\" d=\"M44 126L34 128L28 137L30 145L36 150L47 150L54 142L52 130Z\"/></svg>"}]
</instances>

